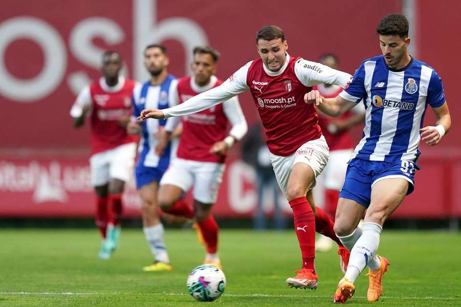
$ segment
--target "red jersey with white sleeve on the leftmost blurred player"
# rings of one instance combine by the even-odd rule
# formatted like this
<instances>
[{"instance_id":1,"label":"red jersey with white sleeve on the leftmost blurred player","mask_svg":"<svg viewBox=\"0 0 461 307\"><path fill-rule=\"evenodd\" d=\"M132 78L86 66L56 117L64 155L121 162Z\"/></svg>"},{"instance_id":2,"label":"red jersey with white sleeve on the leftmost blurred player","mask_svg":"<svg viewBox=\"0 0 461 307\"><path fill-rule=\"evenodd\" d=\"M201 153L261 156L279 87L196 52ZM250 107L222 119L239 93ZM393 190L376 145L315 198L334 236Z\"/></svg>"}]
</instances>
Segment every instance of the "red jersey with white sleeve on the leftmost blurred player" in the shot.
<instances>
[{"instance_id":1,"label":"red jersey with white sleeve on the leftmost blurred player","mask_svg":"<svg viewBox=\"0 0 461 307\"><path fill-rule=\"evenodd\" d=\"M134 142L118 120L131 116L131 96L135 82L119 77L115 86L108 86L104 78L86 86L80 92L71 109L72 117L79 117L85 105L91 105L92 154Z\"/></svg>"}]
</instances>

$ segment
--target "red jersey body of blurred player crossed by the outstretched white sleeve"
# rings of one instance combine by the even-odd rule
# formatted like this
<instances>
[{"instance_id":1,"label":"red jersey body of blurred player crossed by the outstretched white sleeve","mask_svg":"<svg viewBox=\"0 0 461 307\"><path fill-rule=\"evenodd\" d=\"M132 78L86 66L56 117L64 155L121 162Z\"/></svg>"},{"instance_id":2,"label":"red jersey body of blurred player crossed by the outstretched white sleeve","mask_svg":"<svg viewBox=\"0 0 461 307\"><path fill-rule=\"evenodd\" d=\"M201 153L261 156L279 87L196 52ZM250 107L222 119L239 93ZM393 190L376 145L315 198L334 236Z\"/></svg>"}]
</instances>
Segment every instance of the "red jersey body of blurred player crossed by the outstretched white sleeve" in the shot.
<instances>
[{"instance_id":1,"label":"red jersey body of blurred player crossed by the outstretched white sleeve","mask_svg":"<svg viewBox=\"0 0 461 307\"><path fill-rule=\"evenodd\" d=\"M193 78L181 78L178 82L179 103L194 97L200 92L192 86ZM210 89L221 85L216 77L212 80ZM198 113L181 117L182 134L179 140L177 157L185 160L223 163L225 157L218 156L209 150L213 144L226 137L228 120L222 104L212 106Z\"/></svg>"}]
</instances>

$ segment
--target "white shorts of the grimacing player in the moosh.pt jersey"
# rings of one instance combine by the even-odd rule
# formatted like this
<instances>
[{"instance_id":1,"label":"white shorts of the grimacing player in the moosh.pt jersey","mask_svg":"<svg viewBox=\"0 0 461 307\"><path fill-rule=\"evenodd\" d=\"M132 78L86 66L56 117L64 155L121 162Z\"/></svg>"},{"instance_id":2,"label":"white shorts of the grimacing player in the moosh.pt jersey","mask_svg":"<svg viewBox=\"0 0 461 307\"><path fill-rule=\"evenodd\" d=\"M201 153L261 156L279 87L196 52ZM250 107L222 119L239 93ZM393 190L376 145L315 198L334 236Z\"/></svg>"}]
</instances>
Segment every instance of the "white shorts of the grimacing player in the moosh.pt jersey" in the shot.
<instances>
[{"instance_id":1,"label":"white shorts of the grimacing player in the moosh.pt jersey","mask_svg":"<svg viewBox=\"0 0 461 307\"><path fill-rule=\"evenodd\" d=\"M301 162L309 165L317 178L328 162L328 150L325 137L321 136L320 139L304 143L291 156L281 157L270 153L270 161L272 162L277 182L285 197L288 178L295 164Z\"/></svg>"}]
</instances>

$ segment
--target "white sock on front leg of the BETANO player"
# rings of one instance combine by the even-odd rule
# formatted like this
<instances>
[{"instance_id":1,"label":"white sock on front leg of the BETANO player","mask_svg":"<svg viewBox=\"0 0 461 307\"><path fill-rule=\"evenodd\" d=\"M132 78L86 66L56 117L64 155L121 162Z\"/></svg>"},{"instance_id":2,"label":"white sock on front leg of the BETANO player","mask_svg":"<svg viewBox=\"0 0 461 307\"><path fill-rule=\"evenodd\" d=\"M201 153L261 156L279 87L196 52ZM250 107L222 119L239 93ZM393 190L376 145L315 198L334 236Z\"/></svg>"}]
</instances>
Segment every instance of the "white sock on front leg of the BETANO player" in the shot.
<instances>
[{"instance_id":1,"label":"white sock on front leg of the BETANO player","mask_svg":"<svg viewBox=\"0 0 461 307\"><path fill-rule=\"evenodd\" d=\"M345 278L354 282L367 265L371 270L376 270L380 267L380 259L376 257L375 253L380 245L382 230L383 228L379 224L363 223L362 235L350 252L349 266L347 267L346 275L344 275Z\"/></svg>"}]
</instances>

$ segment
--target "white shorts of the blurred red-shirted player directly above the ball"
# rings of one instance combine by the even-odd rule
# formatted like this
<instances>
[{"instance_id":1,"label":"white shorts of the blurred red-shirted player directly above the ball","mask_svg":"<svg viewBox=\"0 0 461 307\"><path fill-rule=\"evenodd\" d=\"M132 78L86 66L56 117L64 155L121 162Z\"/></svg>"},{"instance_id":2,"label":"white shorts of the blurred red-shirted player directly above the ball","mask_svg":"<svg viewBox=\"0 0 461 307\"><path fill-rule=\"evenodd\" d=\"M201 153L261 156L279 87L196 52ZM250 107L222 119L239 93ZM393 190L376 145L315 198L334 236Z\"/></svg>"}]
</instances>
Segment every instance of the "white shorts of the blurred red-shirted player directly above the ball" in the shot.
<instances>
[{"instance_id":1,"label":"white shorts of the blurred red-shirted player directly above the ball","mask_svg":"<svg viewBox=\"0 0 461 307\"><path fill-rule=\"evenodd\" d=\"M187 192L194 185L194 200L214 204L218 198L225 164L174 159L160 180L160 185L171 184Z\"/></svg>"}]
</instances>

